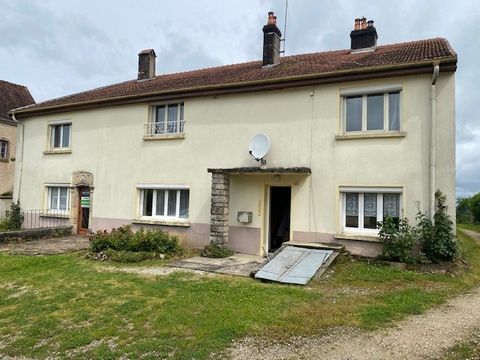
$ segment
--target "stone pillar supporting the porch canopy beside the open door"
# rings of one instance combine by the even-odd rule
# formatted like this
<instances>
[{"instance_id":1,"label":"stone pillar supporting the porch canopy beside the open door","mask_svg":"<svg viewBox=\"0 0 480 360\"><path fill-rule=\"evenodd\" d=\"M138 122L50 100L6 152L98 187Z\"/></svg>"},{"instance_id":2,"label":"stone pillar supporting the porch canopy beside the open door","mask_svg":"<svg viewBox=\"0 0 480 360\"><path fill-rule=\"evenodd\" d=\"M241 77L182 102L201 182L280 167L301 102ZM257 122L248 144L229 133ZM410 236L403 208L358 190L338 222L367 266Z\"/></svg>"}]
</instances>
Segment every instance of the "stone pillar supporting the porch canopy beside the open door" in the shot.
<instances>
[{"instance_id":1,"label":"stone pillar supporting the porch canopy beside the open door","mask_svg":"<svg viewBox=\"0 0 480 360\"><path fill-rule=\"evenodd\" d=\"M230 207L230 174L212 173L212 203L210 207L210 243L228 243L228 214Z\"/></svg>"}]
</instances>

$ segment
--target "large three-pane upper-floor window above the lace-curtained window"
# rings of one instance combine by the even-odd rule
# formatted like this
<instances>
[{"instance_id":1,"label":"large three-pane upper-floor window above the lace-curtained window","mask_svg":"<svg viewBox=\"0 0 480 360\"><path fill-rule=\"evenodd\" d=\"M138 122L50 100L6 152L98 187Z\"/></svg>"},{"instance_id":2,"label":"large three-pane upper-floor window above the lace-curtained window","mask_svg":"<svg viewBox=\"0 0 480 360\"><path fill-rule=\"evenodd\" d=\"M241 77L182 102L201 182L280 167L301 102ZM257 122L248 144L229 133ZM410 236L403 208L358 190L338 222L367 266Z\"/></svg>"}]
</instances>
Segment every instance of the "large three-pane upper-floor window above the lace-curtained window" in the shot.
<instances>
[{"instance_id":1,"label":"large three-pane upper-floor window above the lace-curtained window","mask_svg":"<svg viewBox=\"0 0 480 360\"><path fill-rule=\"evenodd\" d=\"M341 96L344 133L400 131L399 86L348 90Z\"/></svg>"}]
</instances>

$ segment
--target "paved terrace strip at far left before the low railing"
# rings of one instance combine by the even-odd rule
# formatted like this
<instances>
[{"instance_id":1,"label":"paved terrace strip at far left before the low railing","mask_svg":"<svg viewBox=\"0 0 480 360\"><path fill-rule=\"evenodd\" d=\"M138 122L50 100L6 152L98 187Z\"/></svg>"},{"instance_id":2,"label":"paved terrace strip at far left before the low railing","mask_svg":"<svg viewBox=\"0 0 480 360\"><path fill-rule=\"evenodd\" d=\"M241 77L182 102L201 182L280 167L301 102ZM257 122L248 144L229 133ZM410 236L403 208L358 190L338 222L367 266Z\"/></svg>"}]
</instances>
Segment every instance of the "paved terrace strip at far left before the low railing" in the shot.
<instances>
[{"instance_id":1,"label":"paved terrace strip at far left before the low railing","mask_svg":"<svg viewBox=\"0 0 480 360\"><path fill-rule=\"evenodd\" d=\"M53 255L84 250L87 249L88 246L88 237L72 235L61 238L0 244L0 252L22 255Z\"/></svg>"}]
</instances>

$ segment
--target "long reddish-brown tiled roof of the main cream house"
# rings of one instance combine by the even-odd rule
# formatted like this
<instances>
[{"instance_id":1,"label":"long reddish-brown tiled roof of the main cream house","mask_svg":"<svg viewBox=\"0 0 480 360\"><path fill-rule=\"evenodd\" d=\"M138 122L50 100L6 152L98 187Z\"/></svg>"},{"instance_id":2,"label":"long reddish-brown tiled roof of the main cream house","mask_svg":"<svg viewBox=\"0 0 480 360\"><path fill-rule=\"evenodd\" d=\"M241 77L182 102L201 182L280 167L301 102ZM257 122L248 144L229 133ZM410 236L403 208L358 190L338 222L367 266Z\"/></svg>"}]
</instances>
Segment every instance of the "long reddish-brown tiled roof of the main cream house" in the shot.
<instances>
[{"instance_id":1,"label":"long reddish-brown tiled roof of the main cream house","mask_svg":"<svg viewBox=\"0 0 480 360\"><path fill-rule=\"evenodd\" d=\"M261 61L252 61L159 75L141 81L130 80L38 103L28 107L28 110L111 100L119 97L182 92L205 87L227 87L259 81L273 82L285 78L322 76L344 71L365 69L374 71L375 69L395 65L415 66L422 62L448 58L456 59L456 53L448 41L443 38L383 45L378 46L374 51L338 50L292 55L283 57L280 64L268 68L262 68Z\"/></svg>"}]
</instances>

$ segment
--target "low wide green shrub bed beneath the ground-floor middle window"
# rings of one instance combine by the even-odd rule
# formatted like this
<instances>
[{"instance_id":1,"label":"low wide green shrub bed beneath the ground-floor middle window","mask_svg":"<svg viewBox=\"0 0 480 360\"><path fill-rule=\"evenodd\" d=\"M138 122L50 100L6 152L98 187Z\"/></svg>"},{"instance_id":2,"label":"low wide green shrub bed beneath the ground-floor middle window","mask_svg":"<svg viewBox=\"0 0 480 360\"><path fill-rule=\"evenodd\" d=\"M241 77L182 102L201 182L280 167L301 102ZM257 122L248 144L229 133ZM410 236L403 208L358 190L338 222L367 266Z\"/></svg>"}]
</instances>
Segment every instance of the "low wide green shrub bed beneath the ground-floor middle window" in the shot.
<instances>
[{"instance_id":1,"label":"low wide green shrub bed beneath the ground-floor middle window","mask_svg":"<svg viewBox=\"0 0 480 360\"><path fill-rule=\"evenodd\" d=\"M113 229L110 232L96 232L90 236L90 250L95 253L115 250L164 255L176 255L183 251L178 243L178 238L174 235L160 230L140 229L133 232L129 225Z\"/></svg>"}]
</instances>

